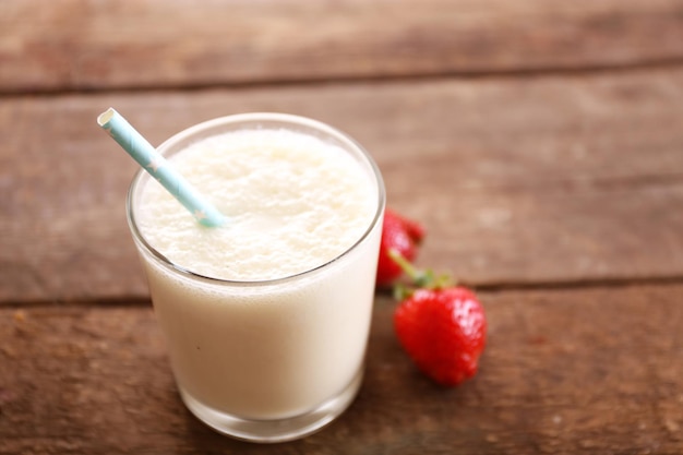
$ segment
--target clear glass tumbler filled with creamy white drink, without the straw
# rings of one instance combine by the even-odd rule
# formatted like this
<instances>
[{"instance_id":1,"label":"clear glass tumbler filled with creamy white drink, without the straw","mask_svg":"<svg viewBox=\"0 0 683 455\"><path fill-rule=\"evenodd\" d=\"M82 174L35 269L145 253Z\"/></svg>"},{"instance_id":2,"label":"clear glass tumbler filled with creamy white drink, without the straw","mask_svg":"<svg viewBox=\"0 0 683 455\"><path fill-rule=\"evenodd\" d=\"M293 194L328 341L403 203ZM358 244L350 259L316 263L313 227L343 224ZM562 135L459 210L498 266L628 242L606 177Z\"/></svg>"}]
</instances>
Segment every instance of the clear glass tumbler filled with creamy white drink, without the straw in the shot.
<instances>
[{"instance_id":1,"label":"clear glass tumbler filled with creamy white drink, without the straw","mask_svg":"<svg viewBox=\"0 0 683 455\"><path fill-rule=\"evenodd\" d=\"M129 192L183 402L243 440L320 429L362 378L385 204L376 166L339 131L275 113L201 123L158 151L227 218L200 225L146 172Z\"/></svg>"}]
</instances>

